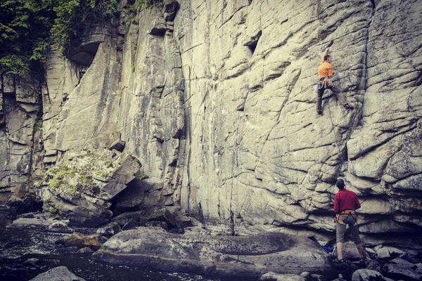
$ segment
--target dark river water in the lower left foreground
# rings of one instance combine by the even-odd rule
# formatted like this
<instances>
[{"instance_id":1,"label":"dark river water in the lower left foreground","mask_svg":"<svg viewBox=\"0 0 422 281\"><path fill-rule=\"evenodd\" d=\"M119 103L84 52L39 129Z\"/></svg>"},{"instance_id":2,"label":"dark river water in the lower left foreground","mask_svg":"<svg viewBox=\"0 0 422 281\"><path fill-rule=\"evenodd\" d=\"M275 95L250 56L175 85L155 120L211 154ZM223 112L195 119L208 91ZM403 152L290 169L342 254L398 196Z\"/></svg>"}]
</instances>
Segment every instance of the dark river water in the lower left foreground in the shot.
<instances>
[{"instance_id":1,"label":"dark river water in the lower left foreground","mask_svg":"<svg viewBox=\"0 0 422 281\"><path fill-rule=\"evenodd\" d=\"M116 266L94 261L91 254L77 254L77 249L56 244L62 233L35 229L6 228L11 218L0 213L0 280L26 281L50 268L66 266L87 281L245 281L245 278L219 278L193 273L169 273L154 268ZM89 235L94 228L78 228L76 232ZM25 263L37 259L34 264ZM250 280L252 281L252 280Z\"/></svg>"}]
</instances>

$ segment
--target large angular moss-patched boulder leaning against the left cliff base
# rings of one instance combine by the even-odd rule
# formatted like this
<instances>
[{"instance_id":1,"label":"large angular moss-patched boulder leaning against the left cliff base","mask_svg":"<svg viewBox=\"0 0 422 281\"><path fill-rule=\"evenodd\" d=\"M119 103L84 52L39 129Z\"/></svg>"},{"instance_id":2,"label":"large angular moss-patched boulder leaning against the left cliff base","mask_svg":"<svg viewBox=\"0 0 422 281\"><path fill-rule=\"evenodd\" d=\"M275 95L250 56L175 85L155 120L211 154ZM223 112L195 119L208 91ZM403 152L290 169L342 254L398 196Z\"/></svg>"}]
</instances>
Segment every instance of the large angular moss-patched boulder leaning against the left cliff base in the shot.
<instances>
[{"instance_id":1,"label":"large angular moss-patched boulder leaning against the left cliff base","mask_svg":"<svg viewBox=\"0 0 422 281\"><path fill-rule=\"evenodd\" d=\"M43 208L74 226L99 226L110 220L111 201L140 168L129 155L106 149L81 152L46 171L41 183Z\"/></svg>"}]
</instances>

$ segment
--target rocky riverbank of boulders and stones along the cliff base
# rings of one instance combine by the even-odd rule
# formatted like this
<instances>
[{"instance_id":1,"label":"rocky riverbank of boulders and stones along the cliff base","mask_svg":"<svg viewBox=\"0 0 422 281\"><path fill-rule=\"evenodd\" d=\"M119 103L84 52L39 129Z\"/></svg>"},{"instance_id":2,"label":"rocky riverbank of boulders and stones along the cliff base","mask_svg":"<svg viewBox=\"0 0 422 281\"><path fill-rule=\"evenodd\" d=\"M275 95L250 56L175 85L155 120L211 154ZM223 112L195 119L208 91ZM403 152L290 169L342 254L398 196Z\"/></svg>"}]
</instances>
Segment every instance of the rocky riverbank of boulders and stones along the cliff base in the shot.
<instances>
[{"instance_id":1,"label":"rocky riverbank of boulders and stones along the cliff base","mask_svg":"<svg viewBox=\"0 0 422 281\"><path fill-rule=\"evenodd\" d=\"M121 214L102 228L86 228L88 231L81 233L69 226L69 221L30 213L13 221L8 229L60 234L55 243L64 249L86 255L89 261L128 268L147 266L241 280L422 280L421 247L411 237L366 243L365 264L358 262L354 244L346 243L347 262L337 264L332 259L335 248L315 237L269 232L217 235L193 219L177 227L175 214L180 210ZM29 257L25 263L36 265L37 261Z\"/></svg>"}]
</instances>

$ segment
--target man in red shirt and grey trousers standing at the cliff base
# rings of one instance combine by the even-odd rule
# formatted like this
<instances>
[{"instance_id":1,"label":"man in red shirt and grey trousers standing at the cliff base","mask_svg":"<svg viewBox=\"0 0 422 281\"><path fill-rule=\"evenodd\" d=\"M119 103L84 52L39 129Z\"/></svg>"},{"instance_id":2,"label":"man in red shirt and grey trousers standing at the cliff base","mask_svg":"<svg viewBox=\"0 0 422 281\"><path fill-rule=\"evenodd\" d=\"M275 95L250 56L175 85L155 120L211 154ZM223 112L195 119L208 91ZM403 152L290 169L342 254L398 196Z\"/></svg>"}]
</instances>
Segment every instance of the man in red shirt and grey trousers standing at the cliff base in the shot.
<instances>
[{"instance_id":1,"label":"man in red shirt and grey trousers standing at the cliff base","mask_svg":"<svg viewBox=\"0 0 422 281\"><path fill-rule=\"evenodd\" d=\"M345 182L338 179L337 185L339 191L334 197L334 211L336 216L335 233L337 238L337 258L339 262L343 262L343 243L345 242L345 233L347 225L352 232L354 244L356 244L359 252L359 259L364 263L364 247L359 237L359 230L357 230L357 213L355 210L359 209L360 203L354 192L346 190Z\"/></svg>"}]
</instances>

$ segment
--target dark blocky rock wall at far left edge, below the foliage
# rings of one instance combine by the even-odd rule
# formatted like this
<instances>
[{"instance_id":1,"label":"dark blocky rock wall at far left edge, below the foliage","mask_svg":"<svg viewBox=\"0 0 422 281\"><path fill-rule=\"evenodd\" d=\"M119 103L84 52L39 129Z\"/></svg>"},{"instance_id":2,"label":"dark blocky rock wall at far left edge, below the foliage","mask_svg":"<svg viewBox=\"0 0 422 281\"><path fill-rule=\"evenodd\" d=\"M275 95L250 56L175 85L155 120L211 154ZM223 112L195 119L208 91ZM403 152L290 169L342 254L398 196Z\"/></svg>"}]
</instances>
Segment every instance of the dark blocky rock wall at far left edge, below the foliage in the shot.
<instances>
[{"instance_id":1,"label":"dark blocky rock wall at far left edge, below the foliage","mask_svg":"<svg viewBox=\"0 0 422 281\"><path fill-rule=\"evenodd\" d=\"M30 189L41 85L29 76L0 78L0 207L20 208Z\"/></svg>"}]
</instances>

